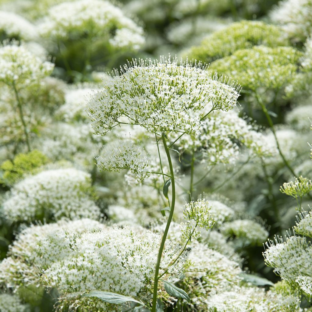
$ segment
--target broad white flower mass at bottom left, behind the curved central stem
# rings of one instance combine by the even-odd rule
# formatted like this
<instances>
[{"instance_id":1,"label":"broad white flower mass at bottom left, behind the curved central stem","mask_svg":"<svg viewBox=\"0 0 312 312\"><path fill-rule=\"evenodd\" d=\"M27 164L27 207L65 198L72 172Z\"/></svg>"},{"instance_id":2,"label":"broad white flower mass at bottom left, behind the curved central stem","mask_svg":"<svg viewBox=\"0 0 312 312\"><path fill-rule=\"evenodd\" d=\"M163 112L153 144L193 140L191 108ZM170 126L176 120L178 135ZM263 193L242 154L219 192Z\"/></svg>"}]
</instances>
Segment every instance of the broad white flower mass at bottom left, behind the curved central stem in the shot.
<instances>
[{"instance_id":1,"label":"broad white flower mass at bottom left, behind the curved central stem","mask_svg":"<svg viewBox=\"0 0 312 312\"><path fill-rule=\"evenodd\" d=\"M91 290L148 303L160 239L143 228L106 227L89 219L32 226L19 234L10 257L0 264L0 282L13 289L30 283L56 287L59 310L74 311L78 306L88 310L91 303L99 308L101 300L81 298ZM168 242L162 268L167 268L175 252ZM29 272L37 282L28 280Z\"/></svg>"}]
</instances>

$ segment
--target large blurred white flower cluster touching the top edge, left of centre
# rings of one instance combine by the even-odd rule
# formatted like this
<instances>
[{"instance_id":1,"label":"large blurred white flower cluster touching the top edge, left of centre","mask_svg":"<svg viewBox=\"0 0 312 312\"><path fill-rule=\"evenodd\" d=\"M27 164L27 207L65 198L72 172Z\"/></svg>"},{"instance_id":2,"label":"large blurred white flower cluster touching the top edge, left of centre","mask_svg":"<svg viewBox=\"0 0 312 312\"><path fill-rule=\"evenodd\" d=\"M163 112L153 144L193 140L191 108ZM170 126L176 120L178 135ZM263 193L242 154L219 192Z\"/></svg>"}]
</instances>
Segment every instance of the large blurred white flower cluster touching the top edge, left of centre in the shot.
<instances>
[{"instance_id":1,"label":"large blurred white flower cluster touching the top edge, left of centre","mask_svg":"<svg viewBox=\"0 0 312 312\"><path fill-rule=\"evenodd\" d=\"M43 37L67 39L73 34L105 38L115 49L138 50L144 44L143 29L108 1L78 0L64 2L49 9L39 25Z\"/></svg>"}]
</instances>

